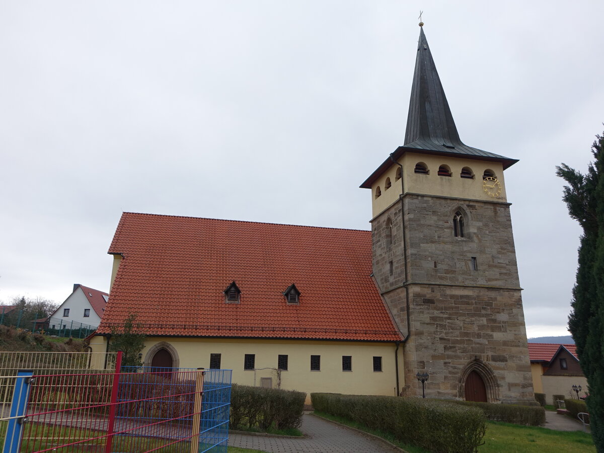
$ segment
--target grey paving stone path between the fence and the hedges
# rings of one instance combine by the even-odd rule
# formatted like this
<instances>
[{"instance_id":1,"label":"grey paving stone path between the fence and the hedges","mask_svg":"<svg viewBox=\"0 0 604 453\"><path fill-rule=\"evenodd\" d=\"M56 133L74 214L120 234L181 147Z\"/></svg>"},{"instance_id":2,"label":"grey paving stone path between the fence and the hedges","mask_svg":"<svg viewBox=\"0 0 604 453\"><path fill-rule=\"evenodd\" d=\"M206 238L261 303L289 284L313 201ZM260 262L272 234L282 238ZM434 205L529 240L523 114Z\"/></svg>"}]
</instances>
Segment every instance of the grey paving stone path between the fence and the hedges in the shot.
<instances>
[{"instance_id":1,"label":"grey paving stone path between the fence and the hedges","mask_svg":"<svg viewBox=\"0 0 604 453\"><path fill-rule=\"evenodd\" d=\"M353 429L343 428L310 414L302 416L304 438L229 434L228 445L269 453L393 453L396 449Z\"/></svg>"}]
</instances>

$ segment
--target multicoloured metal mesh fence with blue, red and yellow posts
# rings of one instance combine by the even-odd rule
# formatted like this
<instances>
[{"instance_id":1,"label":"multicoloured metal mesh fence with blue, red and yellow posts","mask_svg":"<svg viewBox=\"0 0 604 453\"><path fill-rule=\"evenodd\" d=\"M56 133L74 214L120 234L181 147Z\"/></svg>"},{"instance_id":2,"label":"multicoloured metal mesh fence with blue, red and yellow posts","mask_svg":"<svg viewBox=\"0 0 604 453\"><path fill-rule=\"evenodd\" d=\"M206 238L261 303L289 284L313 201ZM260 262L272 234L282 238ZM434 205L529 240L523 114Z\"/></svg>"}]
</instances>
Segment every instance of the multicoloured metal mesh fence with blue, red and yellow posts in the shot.
<instances>
[{"instance_id":1,"label":"multicoloured metal mesh fence with blue, red and yellow posts","mask_svg":"<svg viewBox=\"0 0 604 453\"><path fill-rule=\"evenodd\" d=\"M5 453L226 453L231 371L120 367L2 376ZM21 445L19 445L21 443Z\"/></svg>"}]
</instances>

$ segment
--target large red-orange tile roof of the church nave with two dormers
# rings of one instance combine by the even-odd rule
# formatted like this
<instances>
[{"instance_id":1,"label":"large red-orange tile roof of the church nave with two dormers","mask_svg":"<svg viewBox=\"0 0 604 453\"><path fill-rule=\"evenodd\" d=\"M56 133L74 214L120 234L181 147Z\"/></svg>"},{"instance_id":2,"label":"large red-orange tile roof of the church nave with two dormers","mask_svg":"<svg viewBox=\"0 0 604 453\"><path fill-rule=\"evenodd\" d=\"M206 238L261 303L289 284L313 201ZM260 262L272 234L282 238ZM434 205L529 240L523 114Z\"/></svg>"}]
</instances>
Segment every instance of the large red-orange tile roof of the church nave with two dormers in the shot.
<instances>
[{"instance_id":1,"label":"large red-orange tile roof of the church nave with two dormers","mask_svg":"<svg viewBox=\"0 0 604 453\"><path fill-rule=\"evenodd\" d=\"M401 339L370 277L370 231L124 213L109 253L123 259L99 333L136 313L147 335ZM225 303L232 281L239 304Z\"/></svg>"}]
</instances>

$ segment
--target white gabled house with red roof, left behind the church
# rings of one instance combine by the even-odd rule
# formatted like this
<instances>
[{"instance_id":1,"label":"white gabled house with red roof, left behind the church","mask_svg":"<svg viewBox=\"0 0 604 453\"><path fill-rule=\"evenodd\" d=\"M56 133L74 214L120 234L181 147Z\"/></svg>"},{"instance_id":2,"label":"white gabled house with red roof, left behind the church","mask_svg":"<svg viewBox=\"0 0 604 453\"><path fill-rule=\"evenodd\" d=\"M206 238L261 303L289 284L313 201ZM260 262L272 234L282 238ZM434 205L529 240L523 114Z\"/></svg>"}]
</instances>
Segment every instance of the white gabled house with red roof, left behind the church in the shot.
<instances>
[{"instance_id":1,"label":"white gabled house with red roof, left behind the church","mask_svg":"<svg viewBox=\"0 0 604 453\"><path fill-rule=\"evenodd\" d=\"M76 283L69 297L48 317L45 328L94 330L101 322L108 299L106 292Z\"/></svg>"}]
</instances>

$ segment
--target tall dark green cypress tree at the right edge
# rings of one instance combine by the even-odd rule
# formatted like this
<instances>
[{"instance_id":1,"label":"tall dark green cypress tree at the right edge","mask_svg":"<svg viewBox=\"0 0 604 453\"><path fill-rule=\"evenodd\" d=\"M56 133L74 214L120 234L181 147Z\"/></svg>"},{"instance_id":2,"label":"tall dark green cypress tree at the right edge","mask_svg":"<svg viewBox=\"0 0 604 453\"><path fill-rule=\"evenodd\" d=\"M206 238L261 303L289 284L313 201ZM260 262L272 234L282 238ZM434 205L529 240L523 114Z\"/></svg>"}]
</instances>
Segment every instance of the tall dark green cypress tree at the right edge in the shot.
<instances>
[{"instance_id":1,"label":"tall dark green cypress tree at the right edge","mask_svg":"<svg viewBox=\"0 0 604 453\"><path fill-rule=\"evenodd\" d=\"M566 164L556 174L568 182L562 199L583 228L568 329L587 378L594 443L604 453L604 136L596 135L591 149L594 162L585 175Z\"/></svg>"}]
</instances>

